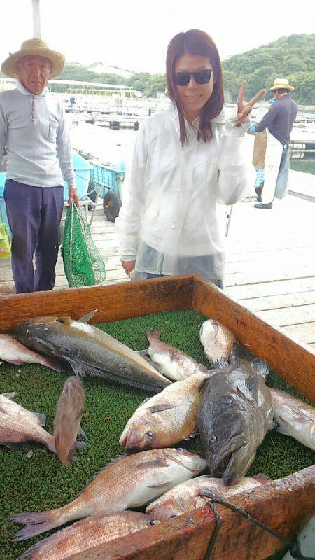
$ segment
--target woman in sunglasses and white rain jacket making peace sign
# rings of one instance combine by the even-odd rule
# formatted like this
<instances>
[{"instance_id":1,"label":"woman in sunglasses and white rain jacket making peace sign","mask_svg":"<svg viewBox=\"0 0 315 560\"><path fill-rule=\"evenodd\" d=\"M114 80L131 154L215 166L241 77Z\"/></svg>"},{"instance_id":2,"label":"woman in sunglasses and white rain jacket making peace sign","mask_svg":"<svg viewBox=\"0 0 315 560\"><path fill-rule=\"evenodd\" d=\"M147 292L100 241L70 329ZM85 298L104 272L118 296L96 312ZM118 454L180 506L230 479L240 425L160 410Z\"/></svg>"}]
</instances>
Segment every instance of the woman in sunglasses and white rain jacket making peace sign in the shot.
<instances>
[{"instance_id":1,"label":"woman in sunglasses and white rain jacket making peace sign","mask_svg":"<svg viewBox=\"0 0 315 560\"><path fill-rule=\"evenodd\" d=\"M116 221L121 262L133 280L201 274L223 288L217 205L235 204L251 191L255 170L244 135L253 104L265 93L246 104L245 85L235 119L228 120L214 41L197 29L172 38L167 90L173 107L142 125Z\"/></svg>"}]
</instances>

